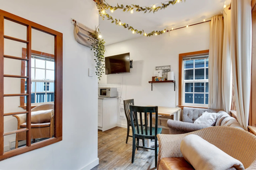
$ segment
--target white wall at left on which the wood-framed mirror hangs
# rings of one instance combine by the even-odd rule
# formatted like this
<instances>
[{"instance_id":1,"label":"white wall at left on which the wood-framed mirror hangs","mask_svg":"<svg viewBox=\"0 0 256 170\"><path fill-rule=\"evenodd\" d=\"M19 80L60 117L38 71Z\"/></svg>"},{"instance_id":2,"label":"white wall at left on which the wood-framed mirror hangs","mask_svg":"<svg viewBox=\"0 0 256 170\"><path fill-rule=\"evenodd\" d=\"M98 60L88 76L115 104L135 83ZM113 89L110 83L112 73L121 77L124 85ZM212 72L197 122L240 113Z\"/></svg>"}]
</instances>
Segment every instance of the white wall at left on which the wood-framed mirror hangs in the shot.
<instances>
[{"instance_id":1,"label":"white wall at left on which the wood-framed mirror hangs","mask_svg":"<svg viewBox=\"0 0 256 170\"><path fill-rule=\"evenodd\" d=\"M98 89L97 77L87 75L88 68L94 68L95 62L90 48L75 41L71 18L94 29L98 26L95 2L0 0L0 4L2 10L63 33L63 141L0 161L0 169L92 168L98 163Z\"/></svg>"}]
</instances>

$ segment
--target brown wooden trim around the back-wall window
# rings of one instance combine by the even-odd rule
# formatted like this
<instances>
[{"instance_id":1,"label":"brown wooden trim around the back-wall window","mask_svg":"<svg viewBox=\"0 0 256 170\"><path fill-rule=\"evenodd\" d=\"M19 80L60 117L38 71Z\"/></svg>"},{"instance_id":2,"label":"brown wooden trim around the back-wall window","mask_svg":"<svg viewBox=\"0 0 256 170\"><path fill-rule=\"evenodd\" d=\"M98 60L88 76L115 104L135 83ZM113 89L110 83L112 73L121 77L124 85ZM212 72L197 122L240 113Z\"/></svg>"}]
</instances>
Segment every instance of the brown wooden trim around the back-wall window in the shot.
<instances>
[{"instance_id":1,"label":"brown wooden trim around the back-wall window","mask_svg":"<svg viewBox=\"0 0 256 170\"><path fill-rule=\"evenodd\" d=\"M209 53L209 50L202 50L202 51L194 51L194 52L179 54L179 85L178 85L178 105L179 106L183 106L183 102L182 102L183 58L187 56L200 56L202 54L208 54L208 53ZM186 107L186 106L183 106L183 107Z\"/></svg>"}]
</instances>

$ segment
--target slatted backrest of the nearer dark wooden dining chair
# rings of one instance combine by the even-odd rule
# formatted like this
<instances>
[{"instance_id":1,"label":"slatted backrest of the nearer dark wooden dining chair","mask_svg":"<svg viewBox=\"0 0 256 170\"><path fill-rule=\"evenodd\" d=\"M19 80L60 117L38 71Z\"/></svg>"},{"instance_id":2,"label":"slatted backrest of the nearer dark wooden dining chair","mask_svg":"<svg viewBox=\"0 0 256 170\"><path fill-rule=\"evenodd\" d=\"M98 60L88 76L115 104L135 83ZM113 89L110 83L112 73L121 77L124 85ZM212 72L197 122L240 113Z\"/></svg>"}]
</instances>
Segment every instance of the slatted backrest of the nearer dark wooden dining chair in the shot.
<instances>
[{"instance_id":1,"label":"slatted backrest of the nearer dark wooden dining chair","mask_svg":"<svg viewBox=\"0 0 256 170\"><path fill-rule=\"evenodd\" d=\"M144 113L144 124L142 122L142 113ZM155 134L152 134L152 114L155 113ZM148 114L149 114L149 122L148 122ZM135 121L131 121L132 124L132 130L133 134L140 134L143 136L156 136L157 135L157 129L158 129L158 107L157 106L150 106L150 107L141 107L141 106L133 106L130 105L130 117L131 119L134 119ZM136 123L136 129L135 125ZM145 134L143 132L143 128L145 127ZM148 134L148 128L149 128L149 134Z\"/></svg>"}]
</instances>

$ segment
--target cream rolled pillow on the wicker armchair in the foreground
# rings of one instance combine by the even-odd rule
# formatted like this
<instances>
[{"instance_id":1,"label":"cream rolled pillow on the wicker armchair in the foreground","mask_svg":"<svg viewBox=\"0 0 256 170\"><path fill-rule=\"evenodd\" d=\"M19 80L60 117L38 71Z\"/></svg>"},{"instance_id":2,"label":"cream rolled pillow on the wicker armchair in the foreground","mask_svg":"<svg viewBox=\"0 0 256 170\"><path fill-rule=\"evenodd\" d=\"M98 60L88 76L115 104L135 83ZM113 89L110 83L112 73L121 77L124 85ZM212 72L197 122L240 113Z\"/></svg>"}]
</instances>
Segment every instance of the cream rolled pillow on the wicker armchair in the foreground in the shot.
<instances>
[{"instance_id":1,"label":"cream rolled pillow on the wicker armchair in the foreground","mask_svg":"<svg viewBox=\"0 0 256 170\"><path fill-rule=\"evenodd\" d=\"M243 164L195 134L181 141L184 159L196 170L244 170Z\"/></svg>"}]
</instances>

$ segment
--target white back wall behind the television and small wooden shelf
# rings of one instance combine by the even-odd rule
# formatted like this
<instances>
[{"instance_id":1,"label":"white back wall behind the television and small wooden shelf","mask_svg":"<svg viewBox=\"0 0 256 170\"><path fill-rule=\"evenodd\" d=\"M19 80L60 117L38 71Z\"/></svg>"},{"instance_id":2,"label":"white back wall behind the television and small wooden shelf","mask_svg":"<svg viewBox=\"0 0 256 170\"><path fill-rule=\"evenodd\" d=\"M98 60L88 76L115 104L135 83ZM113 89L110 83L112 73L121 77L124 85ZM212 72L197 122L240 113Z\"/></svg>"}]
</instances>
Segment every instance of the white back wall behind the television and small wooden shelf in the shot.
<instances>
[{"instance_id":1,"label":"white back wall behind the television and small wooden shelf","mask_svg":"<svg viewBox=\"0 0 256 170\"><path fill-rule=\"evenodd\" d=\"M102 28L103 29L103 28ZM153 84L153 71L156 66L171 65L178 86L178 55L181 53L209 49L209 22L178 29L160 36L140 37L106 47L105 56L130 52L133 69L128 74L103 76L100 83L121 83L123 76L123 100L135 99L135 105L158 105L175 107L178 105L178 89L174 92L173 83ZM123 101L121 101L123 103ZM177 104L176 104L177 103ZM126 125L125 119L118 124Z\"/></svg>"}]
</instances>

